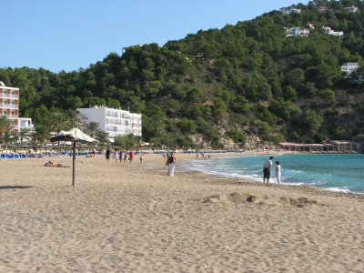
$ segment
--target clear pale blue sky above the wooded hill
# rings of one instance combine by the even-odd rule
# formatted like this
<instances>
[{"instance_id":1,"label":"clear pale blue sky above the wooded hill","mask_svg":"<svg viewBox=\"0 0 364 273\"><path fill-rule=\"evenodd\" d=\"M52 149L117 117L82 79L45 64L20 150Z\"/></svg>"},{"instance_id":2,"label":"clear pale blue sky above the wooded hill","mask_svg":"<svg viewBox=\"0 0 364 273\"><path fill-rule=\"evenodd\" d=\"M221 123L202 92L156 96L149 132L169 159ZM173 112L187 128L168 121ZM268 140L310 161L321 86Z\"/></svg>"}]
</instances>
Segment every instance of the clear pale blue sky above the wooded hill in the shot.
<instances>
[{"instance_id":1,"label":"clear pale blue sky above the wooded hill","mask_svg":"<svg viewBox=\"0 0 364 273\"><path fill-rule=\"evenodd\" d=\"M308 0L0 0L0 67L77 70L298 3Z\"/></svg>"}]
</instances>

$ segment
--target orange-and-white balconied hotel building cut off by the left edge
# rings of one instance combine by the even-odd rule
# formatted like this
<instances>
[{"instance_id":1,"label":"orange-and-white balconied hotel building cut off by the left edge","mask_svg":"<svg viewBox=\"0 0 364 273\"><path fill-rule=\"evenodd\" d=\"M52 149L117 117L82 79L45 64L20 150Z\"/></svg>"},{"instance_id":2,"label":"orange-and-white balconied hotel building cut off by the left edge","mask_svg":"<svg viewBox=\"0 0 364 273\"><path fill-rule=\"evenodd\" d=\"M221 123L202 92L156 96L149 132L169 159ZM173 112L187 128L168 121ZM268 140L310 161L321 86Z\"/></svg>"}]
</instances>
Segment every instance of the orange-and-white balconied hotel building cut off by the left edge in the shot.
<instances>
[{"instance_id":1,"label":"orange-and-white balconied hotel building cut off by the left edge","mask_svg":"<svg viewBox=\"0 0 364 273\"><path fill-rule=\"evenodd\" d=\"M15 133L21 128L34 129L31 118L19 117L19 88L5 86L3 82L0 82L0 116L10 120Z\"/></svg>"}]
</instances>

